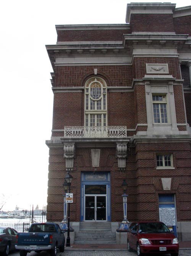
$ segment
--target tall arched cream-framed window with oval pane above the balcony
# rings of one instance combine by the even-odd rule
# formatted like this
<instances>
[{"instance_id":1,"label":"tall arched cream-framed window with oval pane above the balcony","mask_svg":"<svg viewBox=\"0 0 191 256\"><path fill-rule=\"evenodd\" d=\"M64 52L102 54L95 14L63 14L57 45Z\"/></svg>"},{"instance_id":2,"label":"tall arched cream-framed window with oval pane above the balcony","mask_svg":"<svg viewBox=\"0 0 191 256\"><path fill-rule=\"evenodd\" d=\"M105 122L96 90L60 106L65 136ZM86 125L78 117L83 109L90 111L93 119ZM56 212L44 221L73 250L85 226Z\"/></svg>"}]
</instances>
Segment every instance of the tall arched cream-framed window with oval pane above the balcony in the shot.
<instances>
[{"instance_id":1,"label":"tall arched cream-framed window with oval pane above the balcony","mask_svg":"<svg viewBox=\"0 0 191 256\"><path fill-rule=\"evenodd\" d=\"M107 126L107 90L102 78L85 84L85 126Z\"/></svg>"}]
</instances>

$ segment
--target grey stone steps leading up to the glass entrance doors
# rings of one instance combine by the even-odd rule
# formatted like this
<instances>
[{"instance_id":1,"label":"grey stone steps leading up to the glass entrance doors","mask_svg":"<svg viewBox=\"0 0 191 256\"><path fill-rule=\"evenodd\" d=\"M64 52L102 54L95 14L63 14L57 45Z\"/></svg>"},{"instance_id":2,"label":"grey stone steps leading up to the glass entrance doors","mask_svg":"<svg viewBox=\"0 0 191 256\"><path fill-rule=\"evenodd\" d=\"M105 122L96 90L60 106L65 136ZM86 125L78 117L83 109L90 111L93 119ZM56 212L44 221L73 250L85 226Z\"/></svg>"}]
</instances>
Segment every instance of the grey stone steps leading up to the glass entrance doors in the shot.
<instances>
[{"instance_id":1,"label":"grey stone steps leading up to the glass entrance doors","mask_svg":"<svg viewBox=\"0 0 191 256\"><path fill-rule=\"evenodd\" d=\"M74 244L116 244L110 222L81 222Z\"/></svg>"}]
</instances>

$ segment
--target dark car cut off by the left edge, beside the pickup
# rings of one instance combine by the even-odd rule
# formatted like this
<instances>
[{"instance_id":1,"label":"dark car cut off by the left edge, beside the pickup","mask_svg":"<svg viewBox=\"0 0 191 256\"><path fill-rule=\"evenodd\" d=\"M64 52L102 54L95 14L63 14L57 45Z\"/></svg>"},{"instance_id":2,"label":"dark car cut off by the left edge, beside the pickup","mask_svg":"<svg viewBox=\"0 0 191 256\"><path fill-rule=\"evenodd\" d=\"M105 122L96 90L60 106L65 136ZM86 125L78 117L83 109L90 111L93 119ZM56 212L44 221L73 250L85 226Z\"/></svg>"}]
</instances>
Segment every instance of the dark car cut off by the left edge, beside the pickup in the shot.
<instances>
[{"instance_id":1,"label":"dark car cut off by the left edge, beside the pickup","mask_svg":"<svg viewBox=\"0 0 191 256\"><path fill-rule=\"evenodd\" d=\"M15 251L17 231L14 228L0 226L0 253L7 256L10 251Z\"/></svg>"}]
</instances>

